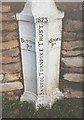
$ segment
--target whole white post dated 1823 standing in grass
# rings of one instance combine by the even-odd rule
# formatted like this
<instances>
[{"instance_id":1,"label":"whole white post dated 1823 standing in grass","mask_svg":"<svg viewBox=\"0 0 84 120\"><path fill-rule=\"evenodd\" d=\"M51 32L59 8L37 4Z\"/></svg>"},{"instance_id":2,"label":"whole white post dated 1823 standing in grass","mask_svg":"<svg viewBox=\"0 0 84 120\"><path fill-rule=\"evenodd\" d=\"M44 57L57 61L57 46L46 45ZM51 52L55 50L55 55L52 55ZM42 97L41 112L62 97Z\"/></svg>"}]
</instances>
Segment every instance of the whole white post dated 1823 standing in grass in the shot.
<instances>
[{"instance_id":1,"label":"whole white post dated 1823 standing in grass","mask_svg":"<svg viewBox=\"0 0 84 120\"><path fill-rule=\"evenodd\" d=\"M53 0L29 0L17 14L24 76L21 100L51 108L59 90L62 18Z\"/></svg>"}]
</instances>

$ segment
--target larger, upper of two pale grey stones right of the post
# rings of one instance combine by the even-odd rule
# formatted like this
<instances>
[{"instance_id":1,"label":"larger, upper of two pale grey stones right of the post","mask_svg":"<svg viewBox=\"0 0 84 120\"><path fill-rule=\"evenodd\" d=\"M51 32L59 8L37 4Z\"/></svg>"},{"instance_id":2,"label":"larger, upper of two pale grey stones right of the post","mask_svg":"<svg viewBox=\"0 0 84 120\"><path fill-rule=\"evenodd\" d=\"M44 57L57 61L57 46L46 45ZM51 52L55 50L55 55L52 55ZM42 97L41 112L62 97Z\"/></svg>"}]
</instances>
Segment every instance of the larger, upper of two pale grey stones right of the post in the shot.
<instances>
[{"instance_id":1,"label":"larger, upper of two pale grey stones right of the post","mask_svg":"<svg viewBox=\"0 0 84 120\"><path fill-rule=\"evenodd\" d=\"M68 67L82 67L82 57L62 58L62 61Z\"/></svg>"}]
</instances>

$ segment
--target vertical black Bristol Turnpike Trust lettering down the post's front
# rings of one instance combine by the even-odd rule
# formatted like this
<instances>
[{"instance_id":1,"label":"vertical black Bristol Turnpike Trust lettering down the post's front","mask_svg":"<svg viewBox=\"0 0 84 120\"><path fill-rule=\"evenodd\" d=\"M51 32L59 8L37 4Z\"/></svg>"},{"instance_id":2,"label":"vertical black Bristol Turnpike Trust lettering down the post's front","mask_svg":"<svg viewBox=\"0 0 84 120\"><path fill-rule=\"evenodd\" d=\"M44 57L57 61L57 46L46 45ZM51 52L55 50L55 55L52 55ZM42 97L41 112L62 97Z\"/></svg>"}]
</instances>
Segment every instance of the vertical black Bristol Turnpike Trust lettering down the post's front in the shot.
<instances>
[{"instance_id":1,"label":"vertical black Bristol Turnpike Trust lettering down the post's front","mask_svg":"<svg viewBox=\"0 0 84 120\"><path fill-rule=\"evenodd\" d=\"M39 95L45 94L45 76L44 76L44 50L43 50L43 24L39 25L39 41L38 41L38 52L39 52L39 83L40 83L40 90Z\"/></svg>"}]
</instances>

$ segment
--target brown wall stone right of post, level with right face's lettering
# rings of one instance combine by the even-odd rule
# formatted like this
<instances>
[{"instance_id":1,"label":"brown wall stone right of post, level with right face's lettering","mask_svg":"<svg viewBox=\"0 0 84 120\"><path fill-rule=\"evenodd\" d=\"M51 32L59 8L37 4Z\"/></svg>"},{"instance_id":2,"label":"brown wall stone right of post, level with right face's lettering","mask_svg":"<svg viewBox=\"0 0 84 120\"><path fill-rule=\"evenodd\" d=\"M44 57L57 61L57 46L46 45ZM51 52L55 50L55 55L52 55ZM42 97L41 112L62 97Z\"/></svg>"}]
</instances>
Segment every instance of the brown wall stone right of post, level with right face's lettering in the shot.
<instances>
[{"instance_id":1,"label":"brown wall stone right of post, level with right face's lettering","mask_svg":"<svg viewBox=\"0 0 84 120\"><path fill-rule=\"evenodd\" d=\"M62 49L63 50L73 50L82 47L82 41L75 41L75 42L63 42Z\"/></svg>"}]
</instances>

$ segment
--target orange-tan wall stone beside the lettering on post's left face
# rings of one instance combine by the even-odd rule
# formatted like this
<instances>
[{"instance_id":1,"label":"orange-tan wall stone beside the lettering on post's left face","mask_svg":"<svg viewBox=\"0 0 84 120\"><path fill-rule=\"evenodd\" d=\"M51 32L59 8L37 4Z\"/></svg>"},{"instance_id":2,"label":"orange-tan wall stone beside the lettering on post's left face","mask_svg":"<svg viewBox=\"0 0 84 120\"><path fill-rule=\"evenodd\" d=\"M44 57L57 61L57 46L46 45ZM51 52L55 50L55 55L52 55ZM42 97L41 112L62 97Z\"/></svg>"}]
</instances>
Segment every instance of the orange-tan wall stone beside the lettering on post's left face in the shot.
<instances>
[{"instance_id":1,"label":"orange-tan wall stone beside the lettering on post's left face","mask_svg":"<svg viewBox=\"0 0 84 120\"><path fill-rule=\"evenodd\" d=\"M12 49L19 46L19 43L17 40L11 40L8 42L3 42L2 45L0 44L0 49L6 50L6 49Z\"/></svg>"}]
</instances>

